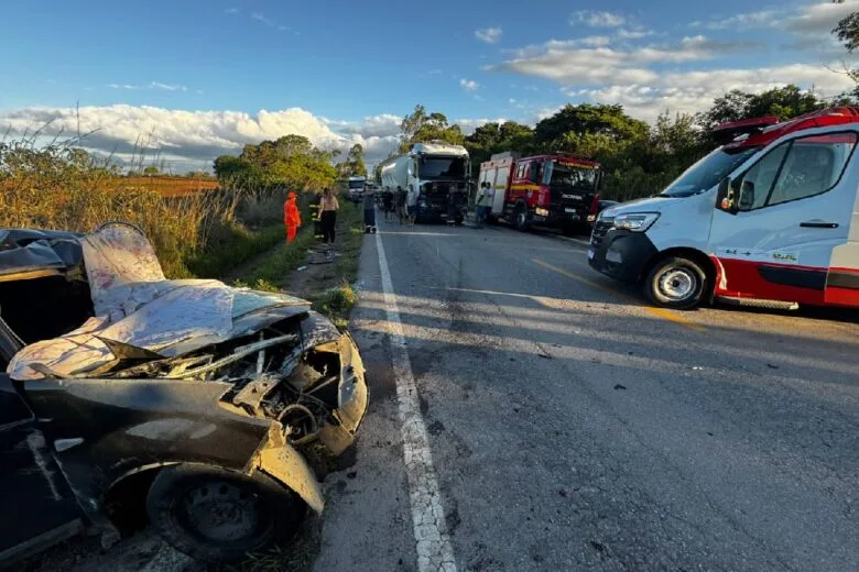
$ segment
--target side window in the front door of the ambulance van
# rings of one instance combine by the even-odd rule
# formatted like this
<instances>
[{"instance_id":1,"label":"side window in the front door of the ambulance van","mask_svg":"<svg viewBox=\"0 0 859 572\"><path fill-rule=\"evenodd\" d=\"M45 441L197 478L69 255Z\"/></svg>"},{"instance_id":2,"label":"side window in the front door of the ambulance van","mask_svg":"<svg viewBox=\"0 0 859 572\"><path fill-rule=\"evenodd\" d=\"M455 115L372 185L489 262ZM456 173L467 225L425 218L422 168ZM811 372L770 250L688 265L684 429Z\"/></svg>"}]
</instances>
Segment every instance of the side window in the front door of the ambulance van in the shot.
<instances>
[{"instance_id":1,"label":"side window in the front door of the ambulance van","mask_svg":"<svg viewBox=\"0 0 859 572\"><path fill-rule=\"evenodd\" d=\"M835 187L856 139L856 133L837 133L795 140L768 206L814 197Z\"/></svg>"}]
</instances>

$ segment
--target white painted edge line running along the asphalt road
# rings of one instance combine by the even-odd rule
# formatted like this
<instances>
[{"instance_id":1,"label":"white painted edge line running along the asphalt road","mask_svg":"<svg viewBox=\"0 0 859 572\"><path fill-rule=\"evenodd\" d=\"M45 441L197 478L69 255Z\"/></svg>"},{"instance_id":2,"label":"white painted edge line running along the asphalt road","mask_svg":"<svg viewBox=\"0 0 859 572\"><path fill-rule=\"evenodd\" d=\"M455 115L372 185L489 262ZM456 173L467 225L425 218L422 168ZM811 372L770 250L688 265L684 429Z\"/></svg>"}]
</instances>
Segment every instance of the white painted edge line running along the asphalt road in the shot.
<instances>
[{"instance_id":1,"label":"white painted edge line running along the asphalt road","mask_svg":"<svg viewBox=\"0 0 859 572\"><path fill-rule=\"evenodd\" d=\"M376 234L379 268L382 276L385 312L392 323L391 361L396 380L396 402L403 433L403 457L409 476L409 499L412 506L412 527L417 542L417 570L420 572L456 572L454 546L447 534L438 480L433 469L430 438L421 416L417 386L412 374L412 363L396 308L391 272L382 246L382 234Z\"/></svg>"}]
</instances>

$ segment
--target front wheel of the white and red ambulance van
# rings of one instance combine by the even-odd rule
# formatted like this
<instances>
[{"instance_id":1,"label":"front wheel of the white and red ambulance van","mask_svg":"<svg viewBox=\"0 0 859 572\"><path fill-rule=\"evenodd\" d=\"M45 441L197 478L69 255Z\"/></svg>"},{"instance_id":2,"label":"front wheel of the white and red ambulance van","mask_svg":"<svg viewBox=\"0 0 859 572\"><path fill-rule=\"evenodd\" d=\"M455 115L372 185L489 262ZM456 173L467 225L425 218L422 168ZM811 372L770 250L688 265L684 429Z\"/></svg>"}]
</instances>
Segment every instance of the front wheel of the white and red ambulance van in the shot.
<instances>
[{"instance_id":1,"label":"front wheel of the white and red ambulance van","mask_svg":"<svg viewBox=\"0 0 859 572\"><path fill-rule=\"evenodd\" d=\"M693 308L706 292L707 274L696 262L681 256L657 262L644 280L644 295L663 308Z\"/></svg>"}]
</instances>

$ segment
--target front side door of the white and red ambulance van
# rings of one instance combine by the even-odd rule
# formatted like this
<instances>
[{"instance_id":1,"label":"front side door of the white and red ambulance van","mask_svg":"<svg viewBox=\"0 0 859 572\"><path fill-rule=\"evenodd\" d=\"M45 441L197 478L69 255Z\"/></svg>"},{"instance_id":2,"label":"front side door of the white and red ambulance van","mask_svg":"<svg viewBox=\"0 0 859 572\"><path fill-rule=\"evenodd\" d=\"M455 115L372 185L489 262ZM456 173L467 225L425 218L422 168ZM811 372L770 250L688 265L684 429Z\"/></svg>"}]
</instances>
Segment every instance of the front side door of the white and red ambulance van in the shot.
<instances>
[{"instance_id":1,"label":"front side door of the white and red ambulance van","mask_svg":"<svg viewBox=\"0 0 859 572\"><path fill-rule=\"evenodd\" d=\"M856 198L856 143L853 131L795 138L733 178L733 199L716 205L710 228L717 295L825 301Z\"/></svg>"}]
</instances>

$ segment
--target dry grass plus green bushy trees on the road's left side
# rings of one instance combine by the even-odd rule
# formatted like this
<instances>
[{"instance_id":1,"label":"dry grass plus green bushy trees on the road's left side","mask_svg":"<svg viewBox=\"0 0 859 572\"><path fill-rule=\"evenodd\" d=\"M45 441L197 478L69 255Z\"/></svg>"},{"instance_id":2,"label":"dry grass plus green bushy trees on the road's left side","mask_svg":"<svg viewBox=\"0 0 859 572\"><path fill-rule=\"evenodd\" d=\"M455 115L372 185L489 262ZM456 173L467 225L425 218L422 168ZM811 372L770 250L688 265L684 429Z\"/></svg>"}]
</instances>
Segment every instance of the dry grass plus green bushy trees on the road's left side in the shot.
<instances>
[{"instance_id":1,"label":"dry grass plus green bushy trees on the road's left side","mask_svg":"<svg viewBox=\"0 0 859 572\"><path fill-rule=\"evenodd\" d=\"M193 193L195 179L188 177L182 193L165 194L157 183L149 185L157 178L123 176L118 163L88 153L78 139L48 145L37 145L35 138L3 140L0 228L88 232L123 220L146 233L168 277L221 277L284 241L287 189L301 189L308 204L315 191L335 183L327 154L305 138L290 141L292 146L280 147L280 158L265 165L273 174L260 179L222 174L216 185L200 178ZM272 142L259 146L267 143Z\"/></svg>"}]
</instances>

